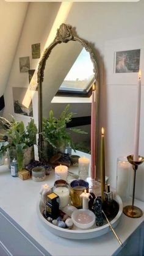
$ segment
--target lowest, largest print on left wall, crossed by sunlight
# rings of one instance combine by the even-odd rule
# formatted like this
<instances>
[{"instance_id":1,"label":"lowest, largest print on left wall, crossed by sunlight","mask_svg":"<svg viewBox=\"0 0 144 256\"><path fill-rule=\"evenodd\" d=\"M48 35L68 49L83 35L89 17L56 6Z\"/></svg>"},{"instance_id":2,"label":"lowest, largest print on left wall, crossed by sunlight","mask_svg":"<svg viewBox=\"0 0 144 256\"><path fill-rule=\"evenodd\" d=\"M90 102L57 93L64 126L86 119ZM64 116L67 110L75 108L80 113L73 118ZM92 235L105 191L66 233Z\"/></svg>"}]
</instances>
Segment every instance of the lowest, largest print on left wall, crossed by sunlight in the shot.
<instances>
[{"instance_id":1,"label":"lowest, largest print on left wall, crossed by sunlight","mask_svg":"<svg viewBox=\"0 0 144 256\"><path fill-rule=\"evenodd\" d=\"M29 106L25 106L23 103L24 97L26 98L27 88L13 87L13 107L16 114L26 115L33 117L32 111L32 97L27 95L27 101L29 100Z\"/></svg>"}]
</instances>

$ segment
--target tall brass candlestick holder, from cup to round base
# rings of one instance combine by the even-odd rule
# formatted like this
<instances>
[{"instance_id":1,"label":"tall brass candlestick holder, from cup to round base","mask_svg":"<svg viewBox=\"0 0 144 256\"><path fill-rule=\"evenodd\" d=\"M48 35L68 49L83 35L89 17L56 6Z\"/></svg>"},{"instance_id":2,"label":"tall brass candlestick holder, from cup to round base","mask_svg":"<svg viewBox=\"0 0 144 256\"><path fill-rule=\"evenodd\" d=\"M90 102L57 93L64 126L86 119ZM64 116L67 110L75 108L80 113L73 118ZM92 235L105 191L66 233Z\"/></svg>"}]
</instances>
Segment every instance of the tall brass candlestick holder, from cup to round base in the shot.
<instances>
[{"instance_id":1,"label":"tall brass candlestick holder, from cup to round base","mask_svg":"<svg viewBox=\"0 0 144 256\"><path fill-rule=\"evenodd\" d=\"M134 206L134 194L135 194L135 177L136 177L136 170L138 166L143 163L144 158L143 156L139 156L137 161L134 161L134 155L127 156L127 159L130 164L132 164L132 169L134 170L134 181L133 181L133 191L132 191L132 205L127 205L123 208L123 213L130 218L139 218L143 215L142 210L139 207Z\"/></svg>"}]
</instances>

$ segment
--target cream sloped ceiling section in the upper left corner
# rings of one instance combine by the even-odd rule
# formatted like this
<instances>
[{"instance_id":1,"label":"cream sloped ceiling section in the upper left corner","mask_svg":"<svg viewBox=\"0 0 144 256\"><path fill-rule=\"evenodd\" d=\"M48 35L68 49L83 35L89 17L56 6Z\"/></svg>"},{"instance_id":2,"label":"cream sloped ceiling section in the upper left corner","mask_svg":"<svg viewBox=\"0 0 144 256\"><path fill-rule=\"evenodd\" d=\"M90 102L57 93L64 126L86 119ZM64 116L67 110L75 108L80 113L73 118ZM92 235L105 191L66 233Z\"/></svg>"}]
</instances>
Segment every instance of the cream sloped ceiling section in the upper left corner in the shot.
<instances>
[{"instance_id":1,"label":"cream sloped ceiling section in the upper left corner","mask_svg":"<svg viewBox=\"0 0 144 256\"><path fill-rule=\"evenodd\" d=\"M0 97L4 94L9 79L10 68L21 35L27 7L27 2L5 2L0 0Z\"/></svg>"}]
</instances>

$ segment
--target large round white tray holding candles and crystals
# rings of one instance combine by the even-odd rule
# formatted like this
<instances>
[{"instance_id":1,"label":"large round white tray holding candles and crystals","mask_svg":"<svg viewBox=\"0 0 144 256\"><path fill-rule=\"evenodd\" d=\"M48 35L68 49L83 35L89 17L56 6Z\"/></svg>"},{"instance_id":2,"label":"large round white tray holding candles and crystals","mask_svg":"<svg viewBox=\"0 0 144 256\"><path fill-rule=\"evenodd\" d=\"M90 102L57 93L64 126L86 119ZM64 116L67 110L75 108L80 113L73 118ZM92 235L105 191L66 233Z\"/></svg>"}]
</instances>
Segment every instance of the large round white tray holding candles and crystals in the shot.
<instances>
[{"instance_id":1,"label":"large round white tray holding candles and crystals","mask_svg":"<svg viewBox=\"0 0 144 256\"><path fill-rule=\"evenodd\" d=\"M110 221L113 228L117 226L118 222L120 221L121 214L123 213L123 203L121 201L120 196L117 195L115 197L115 200L119 204L119 211L117 216L115 216L115 218L112 219L112 221ZM63 238L76 240L90 239L104 235L110 231L109 224L105 224L101 227L96 227L95 225L93 226L93 228L87 230L77 229L77 227L74 225L73 229L62 229L60 227L57 227L56 225L51 224L51 222L46 221L46 219L43 217L43 210L44 208L40 200L40 202L37 203L37 213L42 224L46 227L46 229L54 233L54 235L62 236Z\"/></svg>"}]
</instances>

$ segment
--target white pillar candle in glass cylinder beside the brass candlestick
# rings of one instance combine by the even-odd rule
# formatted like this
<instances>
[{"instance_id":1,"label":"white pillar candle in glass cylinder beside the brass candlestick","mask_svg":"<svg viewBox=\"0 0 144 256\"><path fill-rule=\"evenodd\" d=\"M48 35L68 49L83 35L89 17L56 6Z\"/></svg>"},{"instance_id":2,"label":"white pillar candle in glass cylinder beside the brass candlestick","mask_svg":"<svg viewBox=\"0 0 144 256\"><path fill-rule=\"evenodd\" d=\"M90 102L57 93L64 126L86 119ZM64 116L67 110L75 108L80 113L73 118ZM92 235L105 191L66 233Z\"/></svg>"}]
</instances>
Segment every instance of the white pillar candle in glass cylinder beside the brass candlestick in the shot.
<instances>
[{"instance_id":1,"label":"white pillar candle in glass cylinder beside the brass candlestick","mask_svg":"<svg viewBox=\"0 0 144 256\"><path fill-rule=\"evenodd\" d=\"M123 202L129 200L129 182L130 182L131 165L124 156L117 158L117 183L116 193L121 197Z\"/></svg>"}]
</instances>

